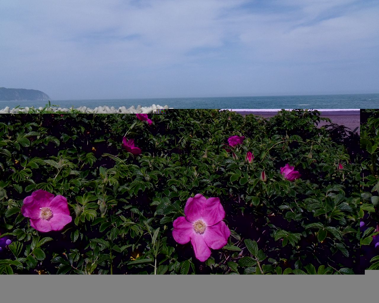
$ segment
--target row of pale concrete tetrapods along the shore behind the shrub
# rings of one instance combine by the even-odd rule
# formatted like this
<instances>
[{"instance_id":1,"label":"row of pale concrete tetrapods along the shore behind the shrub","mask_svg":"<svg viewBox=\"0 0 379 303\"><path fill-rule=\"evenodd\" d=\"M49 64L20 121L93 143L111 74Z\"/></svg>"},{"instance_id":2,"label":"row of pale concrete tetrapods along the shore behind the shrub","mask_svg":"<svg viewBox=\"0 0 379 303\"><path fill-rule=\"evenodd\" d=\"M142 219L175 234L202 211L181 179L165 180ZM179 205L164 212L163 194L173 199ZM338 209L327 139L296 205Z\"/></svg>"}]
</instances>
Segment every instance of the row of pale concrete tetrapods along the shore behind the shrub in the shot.
<instances>
[{"instance_id":1,"label":"row of pale concrete tetrapods along the shore behind the shrub","mask_svg":"<svg viewBox=\"0 0 379 303\"><path fill-rule=\"evenodd\" d=\"M3 108L0 110L0 114L9 114L9 113L22 113L22 112L28 112L29 111L29 107L25 107L24 109L20 109L20 108L13 108L13 109L10 109L9 106L6 106L6 108ZM42 110L42 106L40 106L38 108L39 110ZM71 111L71 108L58 108L58 107L50 107L48 108L49 111L53 111L53 112L57 112L57 111L61 111L61 112L69 112ZM85 113L92 113L92 114L150 114L151 112L155 112L157 111L157 109L173 109L172 107L168 107L168 105L165 105L165 106L160 106L160 105L155 105L153 104L152 106L147 106L147 107L143 107L141 105L138 105L137 108L133 106L131 106L130 108L125 108L125 106L120 106L118 109L114 108L114 106L111 106L111 108L109 108L109 106L98 106L98 107L95 107L94 109L91 109L91 108L87 108L86 106L80 106L78 108L76 108L78 111L81 111L81 112L85 112Z\"/></svg>"}]
</instances>

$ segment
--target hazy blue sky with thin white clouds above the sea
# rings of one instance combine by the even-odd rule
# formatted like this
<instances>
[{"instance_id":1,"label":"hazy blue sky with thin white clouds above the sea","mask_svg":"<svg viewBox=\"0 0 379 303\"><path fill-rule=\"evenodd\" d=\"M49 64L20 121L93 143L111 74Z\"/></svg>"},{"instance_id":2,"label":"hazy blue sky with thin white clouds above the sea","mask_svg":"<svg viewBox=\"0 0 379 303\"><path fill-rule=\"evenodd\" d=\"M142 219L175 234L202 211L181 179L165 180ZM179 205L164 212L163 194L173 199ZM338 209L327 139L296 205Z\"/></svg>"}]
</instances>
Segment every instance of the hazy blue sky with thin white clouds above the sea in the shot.
<instances>
[{"instance_id":1,"label":"hazy blue sky with thin white clouds above the sea","mask_svg":"<svg viewBox=\"0 0 379 303\"><path fill-rule=\"evenodd\" d=\"M377 0L2 0L0 87L52 100L379 93Z\"/></svg>"}]
</instances>

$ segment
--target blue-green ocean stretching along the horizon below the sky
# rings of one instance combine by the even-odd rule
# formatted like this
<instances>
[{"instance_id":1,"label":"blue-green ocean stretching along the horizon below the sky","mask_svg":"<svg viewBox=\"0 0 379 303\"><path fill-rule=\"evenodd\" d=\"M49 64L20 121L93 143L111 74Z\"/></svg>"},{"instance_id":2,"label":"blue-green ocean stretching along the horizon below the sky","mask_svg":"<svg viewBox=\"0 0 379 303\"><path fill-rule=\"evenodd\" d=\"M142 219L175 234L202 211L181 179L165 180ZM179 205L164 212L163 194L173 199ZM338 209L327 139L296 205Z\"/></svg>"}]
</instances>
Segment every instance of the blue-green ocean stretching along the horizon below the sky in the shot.
<instances>
[{"instance_id":1,"label":"blue-green ocean stretching along the horizon below the sky","mask_svg":"<svg viewBox=\"0 0 379 303\"><path fill-rule=\"evenodd\" d=\"M379 108L379 94L352 95L298 95L298 96L262 96L262 97L206 97L206 98L149 98L149 99L102 99L102 100L50 100L51 105L61 108L78 108L86 106L94 109L98 106L148 107L152 104L170 108L219 108L219 109L359 109ZM9 106L38 108L44 107L46 101L0 101L0 109Z\"/></svg>"}]
</instances>

